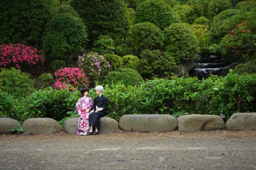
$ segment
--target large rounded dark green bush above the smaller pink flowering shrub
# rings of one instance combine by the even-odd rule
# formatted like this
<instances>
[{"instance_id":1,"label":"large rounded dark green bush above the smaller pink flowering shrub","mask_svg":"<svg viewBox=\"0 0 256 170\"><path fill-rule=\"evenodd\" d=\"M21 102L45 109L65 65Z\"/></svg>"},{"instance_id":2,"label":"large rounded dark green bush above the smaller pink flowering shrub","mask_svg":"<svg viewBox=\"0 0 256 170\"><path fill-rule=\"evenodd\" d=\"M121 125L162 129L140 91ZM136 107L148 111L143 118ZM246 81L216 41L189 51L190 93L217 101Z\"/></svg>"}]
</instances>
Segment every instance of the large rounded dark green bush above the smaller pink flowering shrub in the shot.
<instances>
[{"instance_id":1,"label":"large rounded dark green bush above the smaller pink flowering shrub","mask_svg":"<svg viewBox=\"0 0 256 170\"><path fill-rule=\"evenodd\" d=\"M87 42L87 28L79 17L57 13L47 24L43 37L43 50L48 62L69 61L72 54L81 51Z\"/></svg>"}]
</instances>

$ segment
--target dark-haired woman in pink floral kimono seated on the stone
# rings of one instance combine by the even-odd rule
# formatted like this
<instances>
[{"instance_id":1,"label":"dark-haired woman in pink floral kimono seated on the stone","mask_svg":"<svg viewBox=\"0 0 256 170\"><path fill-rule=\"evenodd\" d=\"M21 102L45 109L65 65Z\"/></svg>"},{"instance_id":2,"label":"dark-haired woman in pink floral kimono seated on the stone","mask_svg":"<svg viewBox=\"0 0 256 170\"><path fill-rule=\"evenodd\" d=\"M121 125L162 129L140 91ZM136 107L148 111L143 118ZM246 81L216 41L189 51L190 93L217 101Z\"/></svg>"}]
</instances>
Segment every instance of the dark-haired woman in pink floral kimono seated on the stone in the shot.
<instances>
[{"instance_id":1,"label":"dark-haired woman in pink floral kimono seated on the stone","mask_svg":"<svg viewBox=\"0 0 256 170\"><path fill-rule=\"evenodd\" d=\"M89 98L89 88L83 87L80 90L83 95L76 103L76 112L78 112L77 135L87 135L89 130L89 114L93 105L93 101Z\"/></svg>"}]
</instances>

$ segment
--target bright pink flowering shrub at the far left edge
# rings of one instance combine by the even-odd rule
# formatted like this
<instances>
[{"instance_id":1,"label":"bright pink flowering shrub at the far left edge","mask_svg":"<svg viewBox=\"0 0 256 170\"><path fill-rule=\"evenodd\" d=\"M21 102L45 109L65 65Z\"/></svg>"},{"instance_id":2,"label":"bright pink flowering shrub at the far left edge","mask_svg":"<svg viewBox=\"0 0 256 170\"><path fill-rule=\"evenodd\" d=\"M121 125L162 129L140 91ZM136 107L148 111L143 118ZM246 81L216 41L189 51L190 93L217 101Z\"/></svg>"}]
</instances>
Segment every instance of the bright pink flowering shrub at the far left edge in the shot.
<instances>
[{"instance_id":1,"label":"bright pink flowering shrub at the far left edge","mask_svg":"<svg viewBox=\"0 0 256 170\"><path fill-rule=\"evenodd\" d=\"M0 45L1 66L16 64L16 67L20 68L18 63L36 64L37 62L44 64L44 54L42 54L41 50L39 51L33 46L27 46L20 43Z\"/></svg>"}]
</instances>

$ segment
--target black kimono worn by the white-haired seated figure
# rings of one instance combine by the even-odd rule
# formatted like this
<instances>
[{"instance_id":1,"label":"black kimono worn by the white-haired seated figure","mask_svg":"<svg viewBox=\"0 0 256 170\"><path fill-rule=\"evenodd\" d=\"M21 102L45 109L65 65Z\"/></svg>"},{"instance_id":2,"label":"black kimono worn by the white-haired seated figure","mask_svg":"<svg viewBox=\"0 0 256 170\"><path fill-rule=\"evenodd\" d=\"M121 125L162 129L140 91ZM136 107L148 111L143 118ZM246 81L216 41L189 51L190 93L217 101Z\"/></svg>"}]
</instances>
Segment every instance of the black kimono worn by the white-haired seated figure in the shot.
<instances>
[{"instance_id":1,"label":"black kimono worn by the white-haired seated figure","mask_svg":"<svg viewBox=\"0 0 256 170\"><path fill-rule=\"evenodd\" d=\"M103 96L101 94L101 96L97 96L93 100L92 109L94 109L94 111L96 111L96 106L98 108L104 108L104 109L101 111L92 112L89 114L89 126L93 125L94 127L96 127L99 130L99 125L100 125L99 118L109 114L109 110L108 110L109 101L108 101L108 99L106 99L105 96ZM93 130L93 131L95 131L95 130Z\"/></svg>"}]
</instances>

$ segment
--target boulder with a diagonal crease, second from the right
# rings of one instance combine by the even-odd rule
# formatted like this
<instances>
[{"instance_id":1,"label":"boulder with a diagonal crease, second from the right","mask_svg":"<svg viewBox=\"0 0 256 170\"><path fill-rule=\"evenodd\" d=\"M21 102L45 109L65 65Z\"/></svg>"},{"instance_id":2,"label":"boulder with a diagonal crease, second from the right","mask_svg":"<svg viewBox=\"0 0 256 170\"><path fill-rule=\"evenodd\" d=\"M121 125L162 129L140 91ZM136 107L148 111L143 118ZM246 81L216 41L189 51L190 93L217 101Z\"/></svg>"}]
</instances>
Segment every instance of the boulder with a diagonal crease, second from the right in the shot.
<instances>
[{"instance_id":1,"label":"boulder with a diagonal crease, second from the right","mask_svg":"<svg viewBox=\"0 0 256 170\"><path fill-rule=\"evenodd\" d=\"M177 118L179 131L201 131L224 129L225 124L221 116L190 114Z\"/></svg>"}]
</instances>

